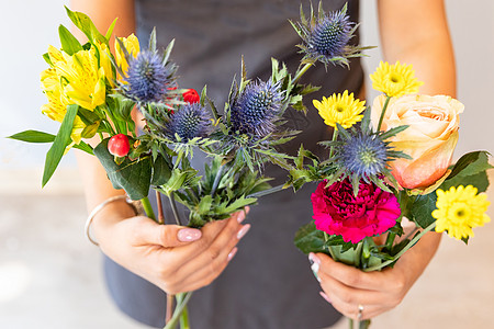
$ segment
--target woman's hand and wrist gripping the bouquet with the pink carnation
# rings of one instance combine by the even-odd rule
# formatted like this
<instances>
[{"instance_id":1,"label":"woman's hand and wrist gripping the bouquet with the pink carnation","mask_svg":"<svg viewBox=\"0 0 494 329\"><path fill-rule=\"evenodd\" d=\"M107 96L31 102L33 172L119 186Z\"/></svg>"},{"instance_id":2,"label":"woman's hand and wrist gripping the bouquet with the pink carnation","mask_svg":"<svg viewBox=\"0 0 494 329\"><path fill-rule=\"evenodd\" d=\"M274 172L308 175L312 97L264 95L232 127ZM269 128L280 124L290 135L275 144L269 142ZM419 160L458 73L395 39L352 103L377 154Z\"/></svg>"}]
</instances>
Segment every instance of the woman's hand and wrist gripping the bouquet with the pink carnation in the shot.
<instances>
[{"instance_id":1,"label":"woman's hand and wrist gripping the bouquet with the pink carnation","mask_svg":"<svg viewBox=\"0 0 494 329\"><path fill-rule=\"evenodd\" d=\"M346 317L370 319L396 307L433 258L440 235L426 234L398 259L394 268L363 272L334 261L324 253L311 253L312 269L318 277L321 295Z\"/></svg>"}]
</instances>

